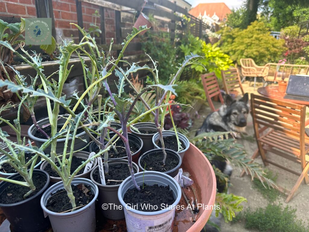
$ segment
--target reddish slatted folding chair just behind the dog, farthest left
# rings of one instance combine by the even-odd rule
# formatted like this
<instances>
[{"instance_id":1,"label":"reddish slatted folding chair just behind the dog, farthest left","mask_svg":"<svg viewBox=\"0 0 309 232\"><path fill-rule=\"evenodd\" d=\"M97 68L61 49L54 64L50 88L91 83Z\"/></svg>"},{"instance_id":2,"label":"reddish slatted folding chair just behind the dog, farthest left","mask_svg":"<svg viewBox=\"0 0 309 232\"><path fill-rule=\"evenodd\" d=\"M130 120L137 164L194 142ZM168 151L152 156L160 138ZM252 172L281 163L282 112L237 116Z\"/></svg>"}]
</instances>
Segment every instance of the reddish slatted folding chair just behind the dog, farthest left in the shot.
<instances>
[{"instance_id":1,"label":"reddish slatted folding chair just behind the dog, farthest left","mask_svg":"<svg viewBox=\"0 0 309 232\"><path fill-rule=\"evenodd\" d=\"M206 73L206 74L201 75L201 79L202 79L202 84L205 90L206 98L210 106L210 109L212 111L217 111L218 109L214 108L214 103L212 102L211 98L218 96L221 104L224 103L223 97L221 95L220 88L218 85L217 77L214 74L214 72L211 72L211 73Z\"/></svg>"}]
</instances>

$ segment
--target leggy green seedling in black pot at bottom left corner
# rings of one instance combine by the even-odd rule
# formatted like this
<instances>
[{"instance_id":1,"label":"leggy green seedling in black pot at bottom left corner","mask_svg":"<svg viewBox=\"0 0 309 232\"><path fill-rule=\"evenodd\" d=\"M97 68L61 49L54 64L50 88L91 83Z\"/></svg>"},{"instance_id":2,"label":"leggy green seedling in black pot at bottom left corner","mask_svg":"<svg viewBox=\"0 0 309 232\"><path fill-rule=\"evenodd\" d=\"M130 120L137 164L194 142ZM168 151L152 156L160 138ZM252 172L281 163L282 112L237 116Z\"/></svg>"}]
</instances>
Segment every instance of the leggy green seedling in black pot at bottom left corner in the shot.
<instances>
[{"instance_id":1,"label":"leggy green seedling in black pot at bottom left corner","mask_svg":"<svg viewBox=\"0 0 309 232\"><path fill-rule=\"evenodd\" d=\"M18 115L14 120L15 126L0 118L1 122L8 124L15 131L17 138L17 143L13 143L8 138L9 135L0 128L0 139L10 150L7 152L0 148L3 154L0 158L2 170L0 207L14 231L42 231L50 225L49 219L44 217L40 207L41 196L49 185L49 175L45 171L35 169L41 163L40 157L28 150L25 146L25 138L20 135L19 115L24 100L25 98L18 107ZM0 113L11 108L11 104L2 106Z\"/></svg>"}]
</instances>

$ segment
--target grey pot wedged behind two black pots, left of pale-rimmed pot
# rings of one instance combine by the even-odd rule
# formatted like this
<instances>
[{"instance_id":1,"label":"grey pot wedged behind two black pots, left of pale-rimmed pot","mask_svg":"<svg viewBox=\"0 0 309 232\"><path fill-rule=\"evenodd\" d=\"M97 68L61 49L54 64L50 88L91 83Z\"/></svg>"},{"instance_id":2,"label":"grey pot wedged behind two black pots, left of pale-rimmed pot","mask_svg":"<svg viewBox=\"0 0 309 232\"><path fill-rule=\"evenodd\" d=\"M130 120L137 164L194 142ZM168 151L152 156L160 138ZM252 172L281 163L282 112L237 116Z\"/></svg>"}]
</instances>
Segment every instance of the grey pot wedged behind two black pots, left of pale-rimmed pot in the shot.
<instances>
[{"instance_id":1,"label":"grey pot wedged behind two black pots, left of pale-rimmed pot","mask_svg":"<svg viewBox=\"0 0 309 232\"><path fill-rule=\"evenodd\" d=\"M135 123L133 126L137 128L138 130L157 131L157 127L155 126L155 123L153 122L138 122L138 123ZM139 138L143 140L144 146L141 150L141 154L144 154L145 152L154 148L151 141L155 133L154 134L142 134L134 130L131 130L131 133L133 135L138 136Z\"/></svg>"}]
</instances>

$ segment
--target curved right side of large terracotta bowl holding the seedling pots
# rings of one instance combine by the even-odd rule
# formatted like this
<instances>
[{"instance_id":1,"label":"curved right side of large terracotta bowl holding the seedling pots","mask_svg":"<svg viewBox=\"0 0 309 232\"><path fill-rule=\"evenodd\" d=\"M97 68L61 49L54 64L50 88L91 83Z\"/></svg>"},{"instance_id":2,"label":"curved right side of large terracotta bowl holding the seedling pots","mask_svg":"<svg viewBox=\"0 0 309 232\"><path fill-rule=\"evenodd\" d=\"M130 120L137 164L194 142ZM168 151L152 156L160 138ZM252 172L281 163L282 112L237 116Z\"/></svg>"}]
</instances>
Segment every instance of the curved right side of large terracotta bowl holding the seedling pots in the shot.
<instances>
[{"instance_id":1,"label":"curved right side of large terracotta bowl holding the seedling pots","mask_svg":"<svg viewBox=\"0 0 309 232\"><path fill-rule=\"evenodd\" d=\"M190 147L186 151L181 167L184 171L191 174L190 178L193 179L197 187L197 198L199 199L199 203L214 205L217 190L214 170L205 155L192 143L190 143ZM197 221L187 232L197 232L203 229L212 212L211 207L209 207L209 209L205 208L200 208Z\"/></svg>"}]
</instances>

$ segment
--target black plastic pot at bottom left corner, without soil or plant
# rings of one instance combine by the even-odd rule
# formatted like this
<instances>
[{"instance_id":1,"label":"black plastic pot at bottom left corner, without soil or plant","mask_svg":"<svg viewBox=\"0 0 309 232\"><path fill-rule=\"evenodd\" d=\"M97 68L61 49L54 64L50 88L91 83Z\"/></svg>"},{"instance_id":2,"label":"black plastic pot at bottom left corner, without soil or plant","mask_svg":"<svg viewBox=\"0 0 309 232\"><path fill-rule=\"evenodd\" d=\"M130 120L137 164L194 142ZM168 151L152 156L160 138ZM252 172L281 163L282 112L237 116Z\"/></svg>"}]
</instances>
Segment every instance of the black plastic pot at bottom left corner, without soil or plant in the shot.
<instances>
[{"instance_id":1,"label":"black plastic pot at bottom left corner, without soil or plant","mask_svg":"<svg viewBox=\"0 0 309 232\"><path fill-rule=\"evenodd\" d=\"M17 203L0 203L0 208L2 209L7 220L11 223L12 231L45 231L50 226L49 218L44 217L43 209L40 205L41 197L49 185L49 175L47 172L39 169L34 169L33 174L41 174L46 176L47 181L40 191L38 191L35 195L29 197L28 199ZM16 179L19 176L19 173L16 173L8 177L8 179ZM11 185L12 183L2 181L0 183L0 193Z\"/></svg>"}]
</instances>

